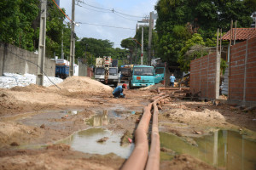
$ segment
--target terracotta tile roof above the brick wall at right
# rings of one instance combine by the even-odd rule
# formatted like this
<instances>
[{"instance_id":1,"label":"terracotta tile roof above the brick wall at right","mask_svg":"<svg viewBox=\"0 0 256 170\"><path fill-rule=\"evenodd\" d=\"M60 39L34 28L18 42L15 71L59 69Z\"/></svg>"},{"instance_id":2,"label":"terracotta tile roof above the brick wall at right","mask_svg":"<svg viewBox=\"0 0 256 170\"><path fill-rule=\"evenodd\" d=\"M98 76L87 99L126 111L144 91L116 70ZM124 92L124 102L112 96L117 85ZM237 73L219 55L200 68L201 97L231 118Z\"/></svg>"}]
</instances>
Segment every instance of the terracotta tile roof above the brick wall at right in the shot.
<instances>
[{"instance_id":1,"label":"terracotta tile roof above the brick wall at right","mask_svg":"<svg viewBox=\"0 0 256 170\"><path fill-rule=\"evenodd\" d=\"M247 40L253 37L256 37L256 28L233 28L232 31L232 40L235 39L235 30L236 30L236 40ZM230 40L230 31L224 34L222 40Z\"/></svg>"}]
</instances>

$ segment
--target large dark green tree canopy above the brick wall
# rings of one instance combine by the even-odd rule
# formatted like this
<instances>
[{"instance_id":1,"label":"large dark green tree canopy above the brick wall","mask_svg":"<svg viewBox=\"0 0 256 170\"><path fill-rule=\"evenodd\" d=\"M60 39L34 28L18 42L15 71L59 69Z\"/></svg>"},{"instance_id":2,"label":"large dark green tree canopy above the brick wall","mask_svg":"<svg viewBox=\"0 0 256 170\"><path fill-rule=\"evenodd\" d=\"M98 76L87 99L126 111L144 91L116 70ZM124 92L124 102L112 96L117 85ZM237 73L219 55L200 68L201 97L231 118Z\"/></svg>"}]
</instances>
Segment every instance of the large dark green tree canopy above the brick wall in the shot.
<instances>
[{"instance_id":1,"label":"large dark green tree canopy above the brick wall","mask_svg":"<svg viewBox=\"0 0 256 170\"><path fill-rule=\"evenodd\" d=\"M181 59L185 48L189 50L187 42L193 34L201 34L202 40L212 45L209 40L217 29L229 31L231 20L237 20L237 27L250 27L251 14L255 10L253 4L252 0L158 1L155 9L159 18L155 27L159 37L159 56L171 65L179 63L185 69L183 64L186 62Z\"/></svg>"}]
</instances>

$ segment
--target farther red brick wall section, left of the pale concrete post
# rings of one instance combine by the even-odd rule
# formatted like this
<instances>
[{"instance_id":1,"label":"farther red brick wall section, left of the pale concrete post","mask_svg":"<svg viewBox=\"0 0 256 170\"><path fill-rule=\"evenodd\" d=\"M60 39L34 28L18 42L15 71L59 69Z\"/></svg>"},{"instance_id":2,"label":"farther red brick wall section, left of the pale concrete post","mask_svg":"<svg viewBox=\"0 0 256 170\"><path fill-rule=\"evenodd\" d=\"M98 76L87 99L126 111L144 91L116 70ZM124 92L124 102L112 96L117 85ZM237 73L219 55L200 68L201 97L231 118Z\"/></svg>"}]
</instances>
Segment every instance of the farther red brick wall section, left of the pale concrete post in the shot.
<instances>
[{"instance_id":1,"label":"farther red brick wall section, left of the pale concrete post","mask_svg":"<svg viewBox=\"0 0 256 170\"><path fill-rule=\"evenodd\" d=\"M216 53L190 63L190 92L201 91L201 98L215 99Z\"/></svg>"}]
</instances>

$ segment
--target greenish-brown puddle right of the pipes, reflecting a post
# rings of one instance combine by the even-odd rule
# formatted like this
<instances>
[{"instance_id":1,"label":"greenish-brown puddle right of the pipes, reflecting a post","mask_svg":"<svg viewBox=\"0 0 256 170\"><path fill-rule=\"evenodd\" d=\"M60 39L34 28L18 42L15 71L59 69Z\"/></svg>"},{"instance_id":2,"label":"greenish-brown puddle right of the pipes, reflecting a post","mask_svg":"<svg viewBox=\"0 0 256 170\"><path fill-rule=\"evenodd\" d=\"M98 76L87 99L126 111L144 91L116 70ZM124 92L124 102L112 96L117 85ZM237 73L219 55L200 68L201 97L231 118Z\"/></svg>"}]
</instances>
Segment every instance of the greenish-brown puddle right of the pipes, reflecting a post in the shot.
<instances>
[{"instance_id":1,"label":"greenish-brown puddle right of the pipes, reflecting a post","mask_svg":"<svg viewBox=\"0 0 256 170\"><path fill-rule=\"evenodd\" d=\"M177 154L195 156L221 169L256 169L256 143L244 139L239 133L220 130L212 136L194 140L198 147L185 143L175 135L160 133L161 147L174 150ZM172 157L172 154L161 152L162 160L170 160Z\"/></svg>"}]
</instances>

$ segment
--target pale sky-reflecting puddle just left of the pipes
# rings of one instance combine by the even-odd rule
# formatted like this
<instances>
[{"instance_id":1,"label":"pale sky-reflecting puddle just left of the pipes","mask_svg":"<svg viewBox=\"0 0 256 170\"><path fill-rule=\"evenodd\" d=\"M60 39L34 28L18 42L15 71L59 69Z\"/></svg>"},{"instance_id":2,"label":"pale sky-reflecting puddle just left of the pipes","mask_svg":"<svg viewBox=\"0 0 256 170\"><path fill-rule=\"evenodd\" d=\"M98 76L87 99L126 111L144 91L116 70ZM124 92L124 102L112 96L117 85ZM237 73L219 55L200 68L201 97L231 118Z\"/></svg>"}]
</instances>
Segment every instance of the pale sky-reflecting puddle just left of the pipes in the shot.
<instances>
[{"instance_id":1,"label":"pale sky-reflecting puddle just left of the pipes","mask_svg":"<svg viewBox=\"0 0 256 170\"><path fill-rule=\"evenodd\" d=\"M103 143L96 142L98 139L108 137ZM113 134L102 128L90 128L78 133L74 133L70 138L62 143L70 144L73 150L79 150L84 153L106 155L114 153L117 156L127 158L131 155L134 144L120 146L121 136Z\"/></svg>"}]
</instances>

